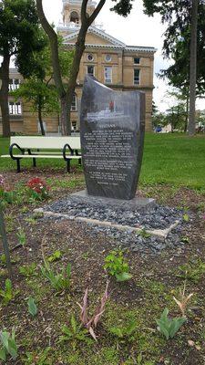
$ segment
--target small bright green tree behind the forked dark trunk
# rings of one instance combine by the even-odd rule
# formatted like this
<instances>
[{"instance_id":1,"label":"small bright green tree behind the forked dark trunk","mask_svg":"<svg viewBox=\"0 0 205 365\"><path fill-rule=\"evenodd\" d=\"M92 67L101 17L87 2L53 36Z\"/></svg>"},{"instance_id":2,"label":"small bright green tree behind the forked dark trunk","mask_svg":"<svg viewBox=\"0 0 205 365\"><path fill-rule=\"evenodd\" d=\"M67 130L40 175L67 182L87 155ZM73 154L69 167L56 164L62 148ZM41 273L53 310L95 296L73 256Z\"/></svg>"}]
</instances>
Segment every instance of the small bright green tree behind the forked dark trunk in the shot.
<instances>
[{"instance_id":1,"label":"small bright green tree behind the forked dark trunk","mask_svg":"<svg viewBox=\"0 0 205 365\"><path fill-rule=\"evenodd\" d=\"M19 66L24 69L25 80L20 84L18 89L12 91L10 95L15 99L25 99L31 106L31 111L36 112L42 135L45 135L43 117L49 113L59 113L60 107L58 102L58 94L53 78L53 68L51 64L51 53L48 44L48 39L45 32L42 30L42 37L45 37L45 44L41 51L34 52L30 61L26 64L29 65L26 72L26 65ZM59 62L61 74L65 80L65 88L67 88L67 82L69 79L70 68L73 60L73 51L65 51L62 46L62 37L58 37L59 49Z\"/></svg>"}]
</instances>

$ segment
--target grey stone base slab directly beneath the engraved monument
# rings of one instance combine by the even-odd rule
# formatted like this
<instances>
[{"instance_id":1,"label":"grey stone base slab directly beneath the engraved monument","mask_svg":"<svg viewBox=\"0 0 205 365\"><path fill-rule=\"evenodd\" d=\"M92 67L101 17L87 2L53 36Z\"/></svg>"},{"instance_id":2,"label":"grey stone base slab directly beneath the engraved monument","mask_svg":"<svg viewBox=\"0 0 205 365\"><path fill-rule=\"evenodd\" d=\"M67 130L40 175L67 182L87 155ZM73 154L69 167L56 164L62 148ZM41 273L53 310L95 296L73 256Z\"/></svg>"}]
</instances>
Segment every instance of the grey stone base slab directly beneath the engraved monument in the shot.
<instances>
[{"instance_id":1,"label":"grey stone base slab directly beneath the engraved monument","mask_svg":"<svg viewBox=\"0 0 205 365\"><path fill-rule=\"evenodd\" d=\"M153 208L155 205L155 199L151 198L143 198L140 196L136 196L131 200L121 200L121 199L113 199L113 198L105 198L102 196L93 196L88 195L87 190L81 190L77 193L71 193L72 200L78 201L79 203L87 203L87 205L99 205L105 206L108 208L115 207L122 210L129 211L144 211L147 212L149 209Z\"/></svg>"}]
</instances>

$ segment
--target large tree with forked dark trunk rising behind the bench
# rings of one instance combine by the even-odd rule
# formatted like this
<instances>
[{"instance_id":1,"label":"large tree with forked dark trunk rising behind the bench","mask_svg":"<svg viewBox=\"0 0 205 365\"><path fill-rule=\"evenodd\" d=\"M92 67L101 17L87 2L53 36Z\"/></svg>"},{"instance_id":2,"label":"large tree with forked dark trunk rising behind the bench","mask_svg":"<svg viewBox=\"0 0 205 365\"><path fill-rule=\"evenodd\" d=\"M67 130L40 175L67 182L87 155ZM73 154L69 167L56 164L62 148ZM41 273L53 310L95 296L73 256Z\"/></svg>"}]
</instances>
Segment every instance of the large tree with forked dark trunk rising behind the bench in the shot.
<instances>
[{"instance_id":1,"label":"large tree with forked dark trunk rising behind the bench","mask_svg":"<svg viewBox=\"0 0 205 365\"><path fill-rule=\"evenodd\" d=\"M114 0L117 2L117 0ZM113 7L112 10L116 11L118 14L122 16L128 16L128 13L131 10L131 1L132 0L119 0L118 3ZM77 74L79 71L80 60L83 55L83 52L86 48L86 36L87 29L96 19L102 7L105 5L106 0L99 0L97 7L93 11L93 13L89 16L87 13L87 3L88 0L82 0L81 5L81 26L79 28L77 43L75 47L75 54L73 58L70 78L68 81L67 89L64 87L63 78L60 70L59 64L59 54L58 54L58 45L57 45L57 35L52 26L49 25L46 16L44 14L42 0L36 0L37 12L40 18L40 22L49 37L50 47L52 53L52 63L54 69L54 78L56 82L56 88L58 91L59 98L61 100L61 124L64 127L62 132L63 134L71 133L71 124L70 124L70 109L73 99L73 94L76 89L77 84Z\"/></svg>"}]
</instances>

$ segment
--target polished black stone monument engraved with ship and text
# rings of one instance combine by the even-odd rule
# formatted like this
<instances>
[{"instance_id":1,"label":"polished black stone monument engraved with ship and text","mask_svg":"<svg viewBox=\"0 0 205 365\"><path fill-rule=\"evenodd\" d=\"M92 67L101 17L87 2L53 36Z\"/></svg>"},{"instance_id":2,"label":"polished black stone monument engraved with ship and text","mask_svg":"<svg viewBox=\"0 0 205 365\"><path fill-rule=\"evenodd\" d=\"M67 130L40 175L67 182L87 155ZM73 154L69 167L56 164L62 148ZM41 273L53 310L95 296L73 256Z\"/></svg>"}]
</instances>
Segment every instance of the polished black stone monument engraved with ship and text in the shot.
<instances>
[{"instance_id":1,"label":"polished black stone monument engraved with ship and text","mask_svg":"<svg viewBox=\"0 0 205 365\"><path fill-rule=\"evenodd\" d=\"M88 195L135 197L145 131L145 94L114 91L85 78L80 111Z\"/></svg>"}]
</instances>

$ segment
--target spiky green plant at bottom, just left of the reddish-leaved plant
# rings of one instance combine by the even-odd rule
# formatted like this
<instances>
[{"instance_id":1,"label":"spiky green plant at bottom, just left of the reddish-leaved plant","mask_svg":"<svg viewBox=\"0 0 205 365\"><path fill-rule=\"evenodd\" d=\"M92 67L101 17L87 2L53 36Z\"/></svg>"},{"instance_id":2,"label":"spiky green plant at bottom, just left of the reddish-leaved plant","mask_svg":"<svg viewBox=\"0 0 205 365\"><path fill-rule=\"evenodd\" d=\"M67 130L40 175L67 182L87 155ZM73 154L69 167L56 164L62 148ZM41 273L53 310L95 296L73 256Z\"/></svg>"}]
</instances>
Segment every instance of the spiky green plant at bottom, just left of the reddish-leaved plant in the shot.
<instances>
[{"instance_id":1,"label":"spiky green plant at bottom, just left of the reddish-leaved plant","mask_svg":"<svg viewBox=\"0 0 205 365\"><path fill-rule=\"evenodd\" d=\"M78 325L74 315L72 315L70 318L70 326L68 327L67 325L65 325L62 328L62 332L63 335L60 337L59 341L70 341L74 351L77 348L78 341L86 342L88 345L92 343L92 340L87 337L87 328L82 328L82 325Z\"/></svg>"}]
</instances>

